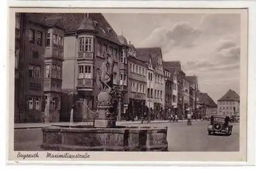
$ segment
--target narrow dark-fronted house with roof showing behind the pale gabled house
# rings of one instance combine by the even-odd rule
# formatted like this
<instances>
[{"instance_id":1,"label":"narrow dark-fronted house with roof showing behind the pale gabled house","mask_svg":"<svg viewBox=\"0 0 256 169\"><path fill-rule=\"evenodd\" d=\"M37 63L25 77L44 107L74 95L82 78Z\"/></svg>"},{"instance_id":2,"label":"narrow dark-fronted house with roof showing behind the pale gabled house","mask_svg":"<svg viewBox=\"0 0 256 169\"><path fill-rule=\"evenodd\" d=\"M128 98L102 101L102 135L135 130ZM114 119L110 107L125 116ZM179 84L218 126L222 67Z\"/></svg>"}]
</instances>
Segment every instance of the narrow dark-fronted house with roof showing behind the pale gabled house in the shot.
<instances>
[{"instance_id":1,"label":"narrow dark-fronted house with roof showing behind the pale gabled house","mask_svg":"<svg viewBox=\"0 0 256 169\"><path fill-rule=\"evenodd\" d=\"M185 117L185 110L184 110L184 79L185 73L182 71L180 61L167 61L164 62L165 68L173 68L177 74L177 85L178 85L178 98L177 98L177 113L179 118Z\"/></svg>"}]
</instances>

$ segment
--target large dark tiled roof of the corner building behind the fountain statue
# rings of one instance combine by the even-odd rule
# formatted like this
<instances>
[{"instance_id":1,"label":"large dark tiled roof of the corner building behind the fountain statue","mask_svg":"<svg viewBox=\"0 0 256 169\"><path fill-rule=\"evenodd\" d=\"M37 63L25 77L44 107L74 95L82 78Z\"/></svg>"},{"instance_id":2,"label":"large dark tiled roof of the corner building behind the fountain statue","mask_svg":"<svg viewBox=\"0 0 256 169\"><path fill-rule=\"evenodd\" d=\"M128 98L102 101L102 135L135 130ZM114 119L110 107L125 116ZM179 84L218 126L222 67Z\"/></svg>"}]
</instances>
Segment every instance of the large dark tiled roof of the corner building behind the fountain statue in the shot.
<instances>
[{"instance_id":1,"label":"large dark tiled roof of the corner building behind the fountain statue","mask_svg":"<svg viewBox=\"0 0 256 169\"><path fill-rule=\"evenodd\" d=\"M63 23L65 32L75 32L88 27L92 29L93 23L98 36L120 44L116 32L101 13L89 13L87 15L84 13L44 13L43 15L46 18L59 18ZM82 22L86 22L86 24L81 26Z\"/></svg>"}]
</instances>

